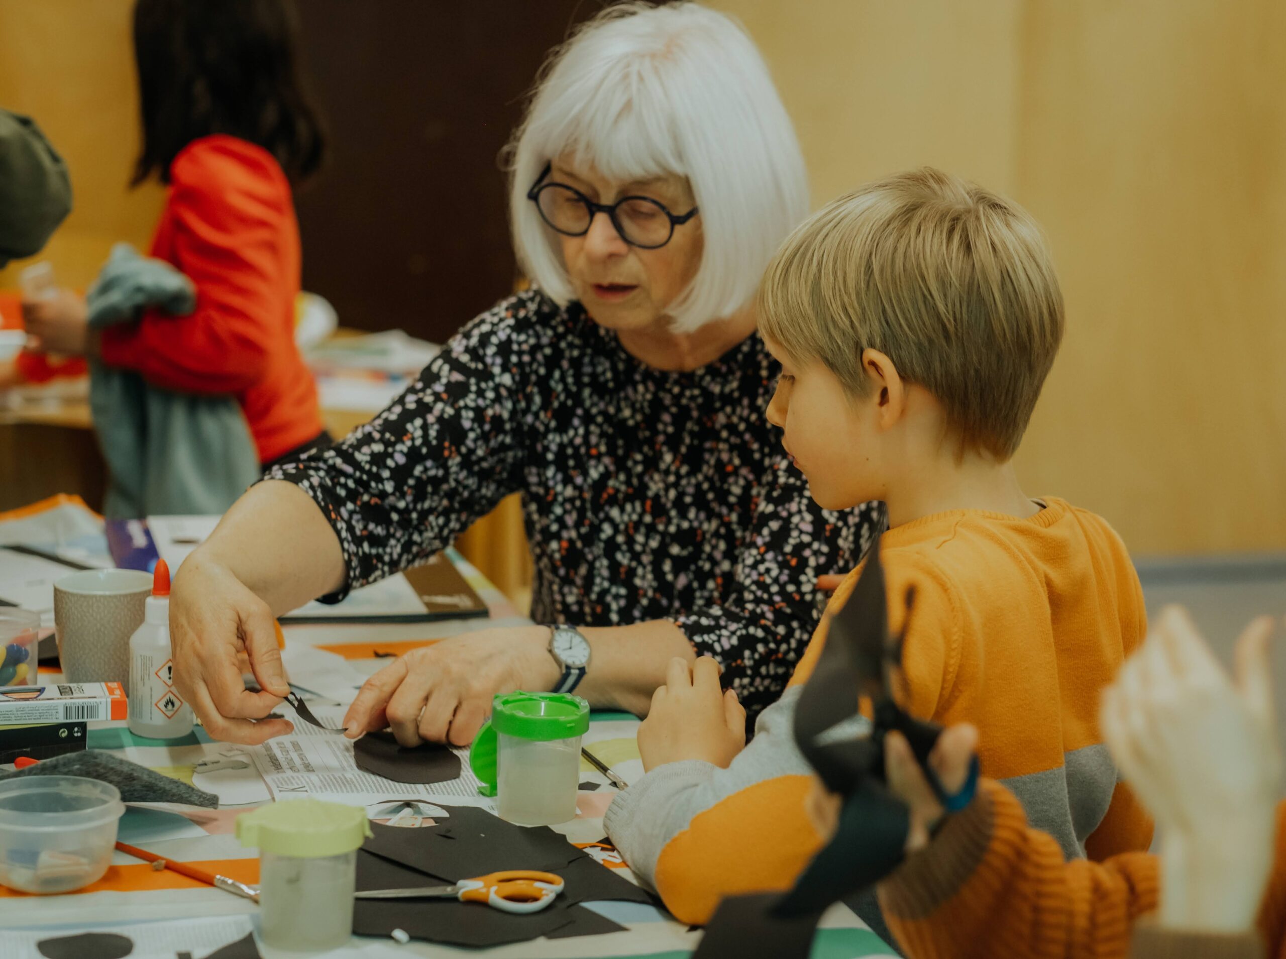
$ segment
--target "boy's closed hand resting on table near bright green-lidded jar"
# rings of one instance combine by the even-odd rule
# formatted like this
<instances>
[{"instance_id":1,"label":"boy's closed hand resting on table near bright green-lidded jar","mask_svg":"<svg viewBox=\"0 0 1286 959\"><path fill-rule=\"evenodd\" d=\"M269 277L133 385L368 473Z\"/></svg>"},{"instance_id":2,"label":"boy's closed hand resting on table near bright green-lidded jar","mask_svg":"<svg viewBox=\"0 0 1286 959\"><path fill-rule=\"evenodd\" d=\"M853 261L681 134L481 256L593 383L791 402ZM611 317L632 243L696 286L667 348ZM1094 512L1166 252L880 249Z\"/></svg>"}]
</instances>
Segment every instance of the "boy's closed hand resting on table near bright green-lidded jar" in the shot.
<instances>
[{"instance_id":1,"label":"boy's closed hand resting on table near bright green-lidded jar","mask_svg":"<svg viewBox=\"0 0 1286 959\"><path fill-rule=\"evenodd\" d=\"M727 766L743 748L746 710L734 692L719 688L719 663L702 656L689 668L685 659L671 659L666 683L639 726L643 770L680 760Z\"/></svg>"}]
</instances>

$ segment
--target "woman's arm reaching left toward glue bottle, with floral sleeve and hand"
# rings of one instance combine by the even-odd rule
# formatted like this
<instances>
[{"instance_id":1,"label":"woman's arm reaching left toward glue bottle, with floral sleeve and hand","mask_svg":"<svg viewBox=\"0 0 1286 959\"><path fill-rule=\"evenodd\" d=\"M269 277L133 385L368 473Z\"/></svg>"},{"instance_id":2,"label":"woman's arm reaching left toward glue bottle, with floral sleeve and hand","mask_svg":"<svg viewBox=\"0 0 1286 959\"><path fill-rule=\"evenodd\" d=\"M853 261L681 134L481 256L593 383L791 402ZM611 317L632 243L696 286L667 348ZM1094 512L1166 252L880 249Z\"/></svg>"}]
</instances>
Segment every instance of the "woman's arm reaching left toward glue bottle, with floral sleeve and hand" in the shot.
<instances>
[{"instance_id":1,"label":"woman's arm reaching left toward glue bottle, with floral sleeve and hand","mask_svg":"<svg viewBox=\"0 0 1286 959\"><path fill-rule=\"evenodd\" d=\"M415 564L517 488L520 375L535 372L512 354L545 319L535 315L543 302L516 298L473 320L370 423L274 469L270 481L288 482L246 494L184 563L170 604L175 674L212 735L257 743L288 731L280 720L249 722L285 692L274 612L323 594L336 602ZM269 692L246 690L242 652Z\"/></svg>"}]
</instances>

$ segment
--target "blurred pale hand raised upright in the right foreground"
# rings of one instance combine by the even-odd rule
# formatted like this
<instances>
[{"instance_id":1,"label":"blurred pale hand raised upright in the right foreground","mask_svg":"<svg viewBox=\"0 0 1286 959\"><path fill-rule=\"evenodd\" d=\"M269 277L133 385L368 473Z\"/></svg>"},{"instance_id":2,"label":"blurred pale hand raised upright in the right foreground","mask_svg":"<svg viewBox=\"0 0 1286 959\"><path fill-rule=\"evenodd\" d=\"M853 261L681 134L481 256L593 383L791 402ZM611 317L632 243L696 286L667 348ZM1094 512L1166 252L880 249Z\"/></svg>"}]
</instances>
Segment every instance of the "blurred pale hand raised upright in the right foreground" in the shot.
<instances>
[{"instance_id":1,"label":"blurred pale hand raised upright in the right foreground","mask_svg":"<svg viewBox=\"0 0 1286 959\"><path fill-rule=\"evenodd\" d=\"M1253 927L1272 868L1281 753L1268 639L1251 622L1228 679L1181 607L1103 690L1103 738L1161 834L1164 926Z\"/></svg>"}]
</instances>

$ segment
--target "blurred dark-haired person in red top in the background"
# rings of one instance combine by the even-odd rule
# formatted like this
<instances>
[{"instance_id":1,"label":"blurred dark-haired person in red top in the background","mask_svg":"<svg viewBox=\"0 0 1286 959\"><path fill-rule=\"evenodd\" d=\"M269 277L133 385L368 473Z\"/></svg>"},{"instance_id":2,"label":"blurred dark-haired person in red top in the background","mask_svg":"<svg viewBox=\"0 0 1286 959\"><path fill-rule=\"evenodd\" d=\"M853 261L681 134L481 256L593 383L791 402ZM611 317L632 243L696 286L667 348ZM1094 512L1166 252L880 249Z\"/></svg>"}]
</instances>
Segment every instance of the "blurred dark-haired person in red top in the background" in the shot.
<instances>
[{"instance_id":1,"label":"blurred dark-haired person in red top in the background","mask_svg":"<svg viewBox=\"0 0 1286 959\"><path fill-rule=\"evenodd\" d=\"M132 370L163 391L234 397L260 465L324 444L294 343L292 189L318 170L324 138L300 78L293 9L139 0L134 53L143 126L134 183L157 176L168 186L150 257L186 276L194 309L149 309L161 300L149 291L156 270L127 266L135 271L116 289L134 297L126 309L136 321L91 327L85 300L64 289L23 303L30 345Z\"/></svg>"}]
</instances>

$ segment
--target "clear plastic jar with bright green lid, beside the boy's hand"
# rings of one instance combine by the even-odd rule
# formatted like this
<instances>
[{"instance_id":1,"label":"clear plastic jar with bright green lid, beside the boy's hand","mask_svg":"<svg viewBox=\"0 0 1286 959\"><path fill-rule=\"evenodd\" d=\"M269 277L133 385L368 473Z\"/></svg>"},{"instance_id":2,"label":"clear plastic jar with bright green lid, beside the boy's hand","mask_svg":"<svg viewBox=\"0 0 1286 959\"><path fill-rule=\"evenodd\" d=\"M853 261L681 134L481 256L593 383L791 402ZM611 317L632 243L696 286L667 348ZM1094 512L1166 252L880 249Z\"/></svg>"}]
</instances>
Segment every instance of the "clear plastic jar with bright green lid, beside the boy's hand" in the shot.
<instances>
[{"instance_id":1,"label":"clear plastic jar with bright green lid, beside the boy's hand","mask_svg":"<svg viewBox=\"0 0 1286 959\"><path fill-rule=\"evenodd\" d=\"M502 819L553 825L576 816L580 738L589 703L570 693L507 693L491 703L469 766L484 796L496 796Z\"/></svg>"}]
</instances>

